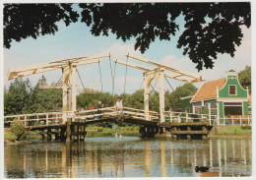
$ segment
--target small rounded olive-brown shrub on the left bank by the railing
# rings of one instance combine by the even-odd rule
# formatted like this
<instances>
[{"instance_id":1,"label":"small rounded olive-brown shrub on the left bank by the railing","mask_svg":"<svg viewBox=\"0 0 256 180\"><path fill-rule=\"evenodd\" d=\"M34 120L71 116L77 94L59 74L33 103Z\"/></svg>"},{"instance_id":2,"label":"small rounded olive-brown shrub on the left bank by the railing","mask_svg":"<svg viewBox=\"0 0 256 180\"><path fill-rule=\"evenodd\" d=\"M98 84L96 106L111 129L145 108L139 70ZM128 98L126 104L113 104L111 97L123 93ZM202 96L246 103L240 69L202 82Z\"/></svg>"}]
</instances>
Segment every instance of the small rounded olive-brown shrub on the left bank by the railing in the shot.
<instances>
[{"instance_id":1,"label":"small rounded olive-brown shrub on the left bank by the railing","mask_svg":"<svg viewBox=\"0 0 256 180\"><path fill-rule=\"evenodd\" d=\"M24 123L17 119L11 123L11 131L16 136L17 141L25 140L28 135L28 130Z\"/></svg>"}]
</instances>

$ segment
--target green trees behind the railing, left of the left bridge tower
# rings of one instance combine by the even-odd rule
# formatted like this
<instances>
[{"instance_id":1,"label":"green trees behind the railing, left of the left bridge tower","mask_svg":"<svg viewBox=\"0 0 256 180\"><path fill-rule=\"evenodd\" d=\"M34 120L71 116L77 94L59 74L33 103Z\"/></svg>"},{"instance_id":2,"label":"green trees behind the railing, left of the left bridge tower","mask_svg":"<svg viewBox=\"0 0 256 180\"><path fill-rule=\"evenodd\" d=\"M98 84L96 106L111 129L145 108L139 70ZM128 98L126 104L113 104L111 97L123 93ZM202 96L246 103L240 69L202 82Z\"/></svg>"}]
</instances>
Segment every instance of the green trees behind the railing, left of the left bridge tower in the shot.
<instances>
[{"instance_id":1,"label":"green trees behind the railing, left of the left bridge tower","mask_svg":"<svg viewBox=\"0 0 256 180\"><path fill-rule=\"evenodd\" d=\"M46 79L42 76L44 81ZM38 81L40 82L41 79ZM53 111L62 106L62 90L32 88L29 79L16 79L4 90L4 115Z\"/></svg>"}]
</instances>

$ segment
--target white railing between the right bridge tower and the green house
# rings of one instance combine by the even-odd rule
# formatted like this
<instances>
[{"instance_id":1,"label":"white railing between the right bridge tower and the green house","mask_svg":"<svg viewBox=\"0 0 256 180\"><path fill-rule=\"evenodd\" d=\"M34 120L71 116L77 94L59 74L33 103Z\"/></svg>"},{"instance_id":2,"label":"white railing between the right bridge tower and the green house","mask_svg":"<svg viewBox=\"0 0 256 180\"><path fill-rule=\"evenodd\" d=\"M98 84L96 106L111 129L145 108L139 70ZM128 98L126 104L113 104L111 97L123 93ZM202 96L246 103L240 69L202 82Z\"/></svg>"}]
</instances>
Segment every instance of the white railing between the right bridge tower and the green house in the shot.
<instances>
[{"instance_id":1,"label":"white railing between the right bridge tower and the green house","mask_svg":"<svg viewBox=\"0 0 256 180\"><path fill-rule=\"evenodd\" d=\"M164 111L165 122L209 122L214 124L217 115Z\"/></svg>"}]
</instances>

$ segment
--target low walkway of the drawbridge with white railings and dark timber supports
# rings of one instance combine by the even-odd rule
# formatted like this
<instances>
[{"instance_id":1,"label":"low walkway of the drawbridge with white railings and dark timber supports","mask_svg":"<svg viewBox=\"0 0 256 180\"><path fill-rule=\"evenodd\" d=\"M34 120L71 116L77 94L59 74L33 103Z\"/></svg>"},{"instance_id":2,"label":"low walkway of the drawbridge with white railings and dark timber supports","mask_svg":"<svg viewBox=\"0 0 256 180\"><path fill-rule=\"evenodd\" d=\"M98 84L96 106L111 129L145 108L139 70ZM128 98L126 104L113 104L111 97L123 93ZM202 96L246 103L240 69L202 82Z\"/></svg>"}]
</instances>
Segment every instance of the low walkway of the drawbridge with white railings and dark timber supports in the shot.
<instances>
[{"instance_id":1,"label":"low walkway of the drawbridge with white railings and dark timber supports","mask_svg":"<svg viewBox=\"0 0 256 180\"><path fill-rule=\"evenodd\" d=\"M19 119L25 123L29 130L38 130L43 135L46 134L49 140L51 134L55 135L55 139L73 136L77 136L77 140L81 137L85 138L86 126L99 122L126 122L143 125L140 127L140 133L146 137L154 137L163 129L169 131L173 136L207 136L213 128L211 121L203 115L191 119L188 114L182 114L182 112L176 112L176 114L175 112L164 112L165 122L160 123L159 114L154 111L150 111L149 120L146 120L144 110L124 107L123 111L118 114L114 107L106 107L99 110L77 111L73 115L68 111L5 116L5 124ZM65 117L68 121L65 121ZM199 120L200 122L194 122ZM79 136L81 137L79 138Z\"/></svg>"}]
</instances>

